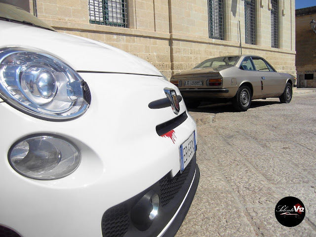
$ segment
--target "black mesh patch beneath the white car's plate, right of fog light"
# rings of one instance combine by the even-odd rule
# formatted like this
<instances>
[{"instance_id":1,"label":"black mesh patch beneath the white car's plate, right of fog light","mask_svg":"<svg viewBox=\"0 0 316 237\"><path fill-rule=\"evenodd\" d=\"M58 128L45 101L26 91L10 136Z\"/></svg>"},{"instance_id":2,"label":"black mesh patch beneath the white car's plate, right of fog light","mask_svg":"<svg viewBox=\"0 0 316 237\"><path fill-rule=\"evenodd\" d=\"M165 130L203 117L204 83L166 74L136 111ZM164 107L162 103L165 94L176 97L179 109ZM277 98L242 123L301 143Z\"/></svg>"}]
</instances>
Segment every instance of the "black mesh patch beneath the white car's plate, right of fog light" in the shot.
<instances>
[{"instance_id":1,"label":"black mesh patch beneath the white car's plate, right of fog light","mask_svg":"<svg viewBox=\"0 0 316 237\"><path fill-rule=\"evenodd\" d=\"M168 175L166 175L159 181L160 201L162 206L168 204L171 199L179 192L189 174L191 165L192 160L182 172L182 174L179 171L177 175L174 176L174 178L171 179Z\"/></svg>"}]
</instances>

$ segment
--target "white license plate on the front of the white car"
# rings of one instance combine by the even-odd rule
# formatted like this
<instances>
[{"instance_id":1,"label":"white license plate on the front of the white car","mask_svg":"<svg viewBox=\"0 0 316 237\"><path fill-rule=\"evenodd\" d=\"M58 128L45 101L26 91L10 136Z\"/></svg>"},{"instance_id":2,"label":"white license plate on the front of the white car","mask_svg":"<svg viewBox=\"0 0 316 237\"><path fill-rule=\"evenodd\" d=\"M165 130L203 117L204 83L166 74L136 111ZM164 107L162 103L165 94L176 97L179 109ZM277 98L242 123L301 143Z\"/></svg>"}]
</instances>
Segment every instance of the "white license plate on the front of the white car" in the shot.
<instances>
[{"instance_id":1,"label":"white license plate on the front of the white car","mask_svg":"<svg viewBox=\"0 0 316 237\"><path fill-rule=\"evenodd\" d=\"M182 145L180 145L180 171L187 167L190 160L196 152L196 132L194 131L191 136Z\"/></svg>"}]
</instances>

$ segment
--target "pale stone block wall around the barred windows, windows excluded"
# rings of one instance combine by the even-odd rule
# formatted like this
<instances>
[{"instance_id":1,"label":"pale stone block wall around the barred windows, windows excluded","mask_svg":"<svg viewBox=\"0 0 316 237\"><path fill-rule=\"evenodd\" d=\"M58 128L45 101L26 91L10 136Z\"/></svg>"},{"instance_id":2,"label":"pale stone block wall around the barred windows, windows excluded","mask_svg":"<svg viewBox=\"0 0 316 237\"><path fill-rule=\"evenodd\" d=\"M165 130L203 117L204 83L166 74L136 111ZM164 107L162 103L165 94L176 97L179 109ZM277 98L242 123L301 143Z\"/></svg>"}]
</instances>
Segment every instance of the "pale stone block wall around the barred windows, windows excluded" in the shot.
<instances>
[{"instance_id":1,"label":"pale stone block wall around the barred windows, windows excluded","mask_svg":"<svg viewBox=\"0 0 316 237\"><path fill-rule=\"evenodd\" d=\"M30 4L33 1L30 0ZM37 0L38 16L59 32L98 40L139 56L167 78L215 56L266 58L296 75L295 1L279 0L279 48L271 47L270 0L256 0L256 45L245 44L244 1L224 0L224 40L209 39L207 0L127 0L128 28L89 23L88 0Z\"/></svg>"}]
</instances>

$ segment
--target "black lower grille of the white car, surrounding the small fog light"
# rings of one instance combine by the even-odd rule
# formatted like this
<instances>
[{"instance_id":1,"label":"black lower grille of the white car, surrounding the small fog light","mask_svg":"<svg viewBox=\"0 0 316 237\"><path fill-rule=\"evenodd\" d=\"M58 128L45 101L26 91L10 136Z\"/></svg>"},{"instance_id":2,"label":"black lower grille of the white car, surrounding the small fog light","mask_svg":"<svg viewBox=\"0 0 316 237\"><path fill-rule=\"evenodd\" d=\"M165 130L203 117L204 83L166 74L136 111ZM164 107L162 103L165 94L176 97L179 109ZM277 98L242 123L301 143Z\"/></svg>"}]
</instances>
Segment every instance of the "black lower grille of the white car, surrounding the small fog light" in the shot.
<instances>
[{"instance_id":1,"label":"black lower grille of the white car, surrounding the small fog light","mask_svg":"<svg viewBox=\"0 0 316 237\"><path fill-rule=\"evenodd\" d=\"M149 190L155 190L160 196L161 209L159 210L162 210L164 223L160 226L160 223L153 225L156 230L152 230L152 232L155 232L154 236L160 233L186 195L195 174L195 167L196 158L194 157L182 173L179 171L173 178L170 177L170 174L166 174L155 185L141 194L108 209L104 213L101 222L103 237L153 236L153 233L137 230L131 221L133 205Z\"/></svg>"}]
</instances>

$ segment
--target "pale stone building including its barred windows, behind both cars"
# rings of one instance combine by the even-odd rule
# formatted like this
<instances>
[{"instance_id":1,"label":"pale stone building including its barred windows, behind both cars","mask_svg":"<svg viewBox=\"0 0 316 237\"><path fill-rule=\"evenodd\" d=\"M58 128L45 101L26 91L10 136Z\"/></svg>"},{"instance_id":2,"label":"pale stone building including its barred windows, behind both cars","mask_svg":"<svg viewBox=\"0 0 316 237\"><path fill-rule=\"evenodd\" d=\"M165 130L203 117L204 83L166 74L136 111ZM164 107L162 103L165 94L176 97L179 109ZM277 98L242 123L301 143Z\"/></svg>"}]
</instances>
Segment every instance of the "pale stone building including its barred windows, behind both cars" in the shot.
<instances>
[{"instance_id":1,"label":"pale stone building including its barred windows, behind both cars","mask_svg":"<svg viewBox=\"0 0 316 237\"><path fill-rule=\"evenodd\" d=\"M57 31L137 55L167 78L210 57L241 51L296 75L295 0L29 0L29 5Z\"/></svg>"}]
</instances>

